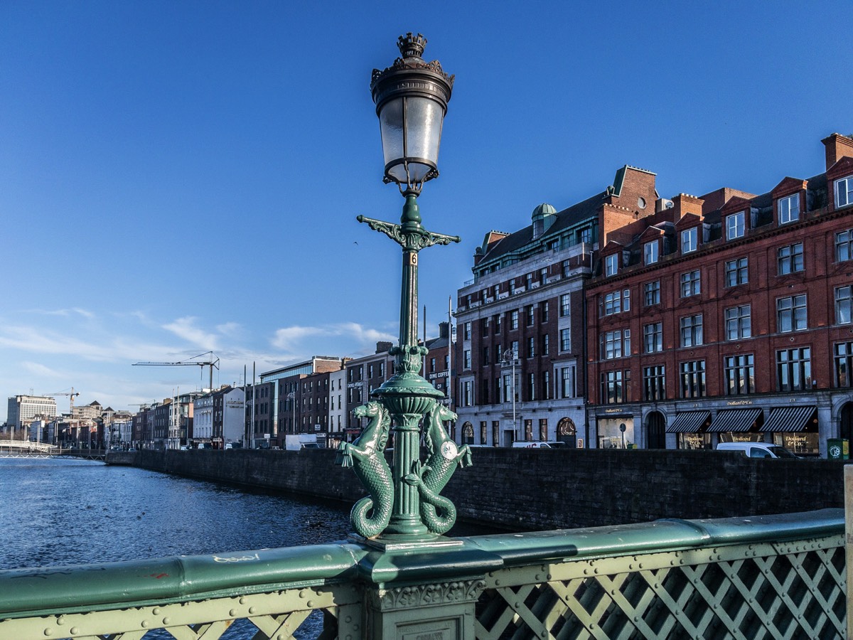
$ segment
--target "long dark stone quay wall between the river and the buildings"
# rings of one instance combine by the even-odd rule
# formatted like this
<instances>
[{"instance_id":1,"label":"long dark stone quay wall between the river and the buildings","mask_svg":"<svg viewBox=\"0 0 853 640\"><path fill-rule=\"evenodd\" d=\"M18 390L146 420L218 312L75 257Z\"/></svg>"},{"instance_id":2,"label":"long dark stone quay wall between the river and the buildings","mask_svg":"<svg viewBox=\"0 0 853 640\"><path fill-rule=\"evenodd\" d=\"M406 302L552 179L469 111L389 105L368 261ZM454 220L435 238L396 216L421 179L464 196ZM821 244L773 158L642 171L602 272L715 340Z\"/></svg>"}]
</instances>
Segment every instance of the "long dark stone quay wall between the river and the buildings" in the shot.
<instances>
[{"instance_id":1,"label":"long dark stone quay wall between the river and the buildings","mask_svg":"<svg viewBox=\"0 0 853 640\"><path fill-rule=\"evenodd\" d=\"M460 520L531 531L659 518L725 518L844 507L844 463L729 451L473 449L443 495ZM335 451L110 452L107 463L355 503L364 490Z\"/></svg>"}]
</instances>

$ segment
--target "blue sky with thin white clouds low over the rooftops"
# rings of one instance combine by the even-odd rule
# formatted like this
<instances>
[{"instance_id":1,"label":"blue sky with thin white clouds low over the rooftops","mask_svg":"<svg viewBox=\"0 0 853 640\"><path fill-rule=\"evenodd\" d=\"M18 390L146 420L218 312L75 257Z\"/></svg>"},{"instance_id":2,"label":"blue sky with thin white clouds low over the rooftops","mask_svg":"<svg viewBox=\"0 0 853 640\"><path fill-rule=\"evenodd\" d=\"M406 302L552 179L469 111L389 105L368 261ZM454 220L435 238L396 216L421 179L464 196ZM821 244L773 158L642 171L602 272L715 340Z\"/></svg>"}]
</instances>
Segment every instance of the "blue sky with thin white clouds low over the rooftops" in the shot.
<instances>
[{"instance_id":1,"label":"blue sky with thin white clouds low over the rooftops","mask_svg":"<svg viewBox=\"0 0 853 640\"><path fill-rule=\"evenodd\" d=\"M422 32L456 74L421 213L430 335L490 229L612 183L763 193L853 131L853 3L0 3L0 420L115 409L397 336L368 84ZM455 296L454 296L455 297ZM67 410L67 398L57 399Z\"/></svg>"}]
</instances>

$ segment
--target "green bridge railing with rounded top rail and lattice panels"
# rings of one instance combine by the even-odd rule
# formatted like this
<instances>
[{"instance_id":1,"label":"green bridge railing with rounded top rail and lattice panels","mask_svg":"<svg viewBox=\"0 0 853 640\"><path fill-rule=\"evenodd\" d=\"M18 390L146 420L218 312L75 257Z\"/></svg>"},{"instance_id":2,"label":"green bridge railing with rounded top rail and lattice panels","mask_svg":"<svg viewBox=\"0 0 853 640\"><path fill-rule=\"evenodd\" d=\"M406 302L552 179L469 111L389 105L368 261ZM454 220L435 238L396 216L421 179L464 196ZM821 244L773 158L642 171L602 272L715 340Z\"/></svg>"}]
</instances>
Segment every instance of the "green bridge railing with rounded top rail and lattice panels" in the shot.
<instances>
[{"instance_id":1,"label":"green bridge railing with rounded top rail and lattice panels","mask_svg":"<svg viewBox=\"0 0 853 640\"><path fill-rule=\"evenodd\" d=\"M0 637L837 638L845 567L844 509L352 541L2 571Z\"/></svg>"}]
</instances>

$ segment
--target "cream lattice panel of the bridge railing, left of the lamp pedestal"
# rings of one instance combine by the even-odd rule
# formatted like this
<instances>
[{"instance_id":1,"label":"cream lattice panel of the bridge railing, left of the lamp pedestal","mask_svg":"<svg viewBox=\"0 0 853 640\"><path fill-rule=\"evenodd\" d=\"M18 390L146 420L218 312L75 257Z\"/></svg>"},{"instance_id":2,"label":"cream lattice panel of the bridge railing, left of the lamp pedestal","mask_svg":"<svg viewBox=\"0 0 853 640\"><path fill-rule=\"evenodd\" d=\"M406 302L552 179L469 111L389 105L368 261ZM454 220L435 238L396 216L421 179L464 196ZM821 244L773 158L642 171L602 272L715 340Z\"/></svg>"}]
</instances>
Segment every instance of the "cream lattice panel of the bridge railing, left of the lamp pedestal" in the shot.
<instances>
[{"instance_id":1,"label":"cream lattice panel of the bridge railing, left of the lamp pedestal","mask_svg":"<svg viewBox=\"0 0 853 640\"><path fill-rule=\"evenodd\" d=\"M151 607L0 620L0 638L44 640L289 640L363 637L351 586L290 589ZM323 619L314 611L322 611Z\"/></svg>"}]
</instances>

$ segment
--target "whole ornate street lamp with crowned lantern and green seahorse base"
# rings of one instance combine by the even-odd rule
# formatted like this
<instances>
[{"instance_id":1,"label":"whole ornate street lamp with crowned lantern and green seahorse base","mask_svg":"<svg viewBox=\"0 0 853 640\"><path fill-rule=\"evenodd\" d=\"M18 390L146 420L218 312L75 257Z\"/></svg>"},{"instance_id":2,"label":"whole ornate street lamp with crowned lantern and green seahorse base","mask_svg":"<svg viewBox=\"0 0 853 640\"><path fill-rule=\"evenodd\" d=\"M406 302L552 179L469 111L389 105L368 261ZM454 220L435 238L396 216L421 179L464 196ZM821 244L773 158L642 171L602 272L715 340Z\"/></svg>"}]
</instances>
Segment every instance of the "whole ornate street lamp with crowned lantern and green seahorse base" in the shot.
<instances>
[{"instance_id":1,"label":"whole ornate street lamp with crowned lantern and green seahorse base","mask_svg":"<svg viewBox=\"0 0 853 640\"><path fill-rule=\"evenodd\" d=\"M456 508L438 494L457 465L470 464L467 446L457 448L444 428L456 414L440 402L444 393L420 375L427 349L417 340L418 252L459 241L458 236L424 229L417 204L423 184L438 177L441 126L453 86L453 76L438 61L421 57L426 44L420 33L398 38L402 57L384 71L374 69L370 84L385 155L384 181L397 183L406 199L400 224L357 218L403 247L400 337L390 351L394 375L357 408L357 416L369 418L357 441L339 446L339 462L352 466L370 493L353 507L352 525L364 538L380 538L382 544L428 543L447 532L456 521ZM428 450L423 462L421 422ZM392 468L383 455L390 431Z\"/></svg>"}]
</instances>

